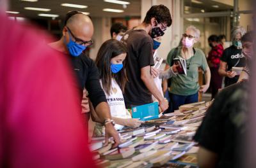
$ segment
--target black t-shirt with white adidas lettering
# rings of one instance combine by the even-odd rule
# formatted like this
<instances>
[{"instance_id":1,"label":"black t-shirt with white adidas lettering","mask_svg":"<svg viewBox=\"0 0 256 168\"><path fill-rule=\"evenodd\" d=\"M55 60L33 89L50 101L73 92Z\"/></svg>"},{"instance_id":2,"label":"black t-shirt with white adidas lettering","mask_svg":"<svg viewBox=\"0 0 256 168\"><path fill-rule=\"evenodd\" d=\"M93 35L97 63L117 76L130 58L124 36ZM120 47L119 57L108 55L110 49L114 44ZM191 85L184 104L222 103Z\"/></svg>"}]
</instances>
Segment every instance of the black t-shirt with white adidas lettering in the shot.
<instances>
[{"instance_id":1,"label":"black t-shirt with white adidas lettering","mask_svg":"<svg viewBox=\"0 0 256 168\"><path fill-rule=\"evenodd\" d=\"M223 62L227 62L227 71L231 71L232 67L244 67L245 57L242 53L242 49L237 49L236 46L232 45L226 48L221 57ZM232 85L237 82L239 75L234 78L225 78L225 87Z\"/></svg>"}]
</instances>

